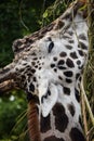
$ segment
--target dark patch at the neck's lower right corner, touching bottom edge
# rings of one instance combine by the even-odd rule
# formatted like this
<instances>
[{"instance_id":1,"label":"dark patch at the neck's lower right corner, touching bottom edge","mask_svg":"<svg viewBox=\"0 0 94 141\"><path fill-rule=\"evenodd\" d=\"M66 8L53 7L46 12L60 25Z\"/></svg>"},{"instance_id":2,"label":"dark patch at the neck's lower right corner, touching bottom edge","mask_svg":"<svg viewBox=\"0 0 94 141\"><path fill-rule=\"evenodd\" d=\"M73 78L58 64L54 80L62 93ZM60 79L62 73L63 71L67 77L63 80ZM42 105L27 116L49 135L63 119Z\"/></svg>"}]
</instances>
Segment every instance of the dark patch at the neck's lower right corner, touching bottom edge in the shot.
<instances>
[{"instance_id":1,"label":"dark patch at the neck's lower right corner, touching bottom edge","mask_svg":"<svg viewBox=\"0 0 94 141\"><path fill-rule=\"evenodd\" d=\"M85 141L83 133L76 127L71 128L69 134L70 134L71 141Z\"/></svg>"}]
</instances>

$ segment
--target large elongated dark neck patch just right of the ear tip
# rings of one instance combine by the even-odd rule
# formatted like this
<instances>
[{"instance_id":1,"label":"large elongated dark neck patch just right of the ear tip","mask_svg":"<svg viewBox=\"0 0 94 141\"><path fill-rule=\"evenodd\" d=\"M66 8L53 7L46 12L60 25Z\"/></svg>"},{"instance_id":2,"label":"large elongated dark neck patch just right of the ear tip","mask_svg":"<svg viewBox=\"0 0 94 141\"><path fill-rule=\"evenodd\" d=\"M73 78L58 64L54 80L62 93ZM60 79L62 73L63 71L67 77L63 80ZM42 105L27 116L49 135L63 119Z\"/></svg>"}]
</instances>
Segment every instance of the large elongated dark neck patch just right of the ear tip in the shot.
<instances>
[{"instance_id":1,"label":"large elongated dark neck patch just right of the ear tip","mask_svg":"<svg viewBox=\"0 0 94 141\"><path fill-rule=\"evenodd\" d=\"M55 116L56 129L64 132L68 125L68 117L65 113L64 106L61 103L56 103L53 107L53 114Z\"/></svg>"}]
</instances>

